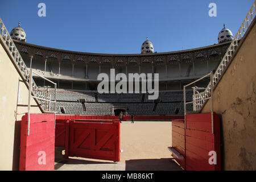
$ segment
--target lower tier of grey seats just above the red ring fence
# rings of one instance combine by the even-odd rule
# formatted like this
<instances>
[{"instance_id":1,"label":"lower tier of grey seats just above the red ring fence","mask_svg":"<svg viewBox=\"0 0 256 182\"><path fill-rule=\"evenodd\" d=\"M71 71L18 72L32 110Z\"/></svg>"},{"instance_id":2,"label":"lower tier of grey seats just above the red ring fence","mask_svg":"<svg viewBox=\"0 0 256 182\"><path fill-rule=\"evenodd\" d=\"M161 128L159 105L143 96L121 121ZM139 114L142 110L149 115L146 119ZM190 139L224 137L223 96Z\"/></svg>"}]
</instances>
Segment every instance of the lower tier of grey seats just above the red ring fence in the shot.
<instances>
[{"instance_id":1,"label":"lower tier of grey seats just above the red ring fence","mask_svg":"<svg viewBox=\"0 0 256 182\"><path fill-rule=\"evenodd\" d=\"M51 99L54 100L54 89L49 89ZM192 101L192 92L187 92L186 101ZM96 97L98 102L96 102ZM76 90L56 90L57 107L59 114L84 114L84 115L113 115L115 108L123 108L127 114L134 115L173 115L184 114L183 92L159 92L159 103L148 100L148 95L143 94L99 94ZM81 101L82 99L83 101ZM51 105L53 110L54 104ZM187 106L192 111L192 105Z\"/></svg>"}]
</instances>

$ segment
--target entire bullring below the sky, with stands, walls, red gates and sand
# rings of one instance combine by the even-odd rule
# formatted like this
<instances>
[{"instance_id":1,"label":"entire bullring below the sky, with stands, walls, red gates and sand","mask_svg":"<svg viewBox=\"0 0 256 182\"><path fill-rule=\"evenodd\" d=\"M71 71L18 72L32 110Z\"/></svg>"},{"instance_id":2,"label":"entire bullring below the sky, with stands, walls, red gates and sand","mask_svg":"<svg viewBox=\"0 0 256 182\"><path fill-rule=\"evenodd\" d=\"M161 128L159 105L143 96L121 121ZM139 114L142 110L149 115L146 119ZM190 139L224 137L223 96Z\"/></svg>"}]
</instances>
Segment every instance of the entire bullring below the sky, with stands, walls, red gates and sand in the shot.
<instances>
[{"instance_id":1,"label":"entire bullring below the sky, with stands, walls, red gates and sand","mask_svg":"<svg viewBox=\"0 0 256 182\"><path fill-rule=\"evenodd\" d=\"M149 38L135 54L65 51L3 21L1 170L256 169L255 2L235 35L224 24L218 43L175 52L154 52ZM112 71L104 89L118 75L141 79L99 93L98 75ZM156 74L156 100L128 93Z\"/></svg>"}]
</instances>

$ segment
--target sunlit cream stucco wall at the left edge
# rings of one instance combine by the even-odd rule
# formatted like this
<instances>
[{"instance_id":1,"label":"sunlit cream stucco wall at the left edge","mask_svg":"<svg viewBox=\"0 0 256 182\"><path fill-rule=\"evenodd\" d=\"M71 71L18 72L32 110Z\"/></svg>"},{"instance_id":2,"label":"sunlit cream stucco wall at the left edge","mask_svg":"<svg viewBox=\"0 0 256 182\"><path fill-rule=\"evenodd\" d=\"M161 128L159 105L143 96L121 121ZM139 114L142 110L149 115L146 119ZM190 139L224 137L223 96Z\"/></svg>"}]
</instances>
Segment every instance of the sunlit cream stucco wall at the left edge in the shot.
<instances>
[{"instance_id":1,"label":"sunlit cream stucco wall at the left edge","mask_svg":"<svg viewBox=\"0 0 256 182\"><path fill-rule=\"evenodd\" d=\"M0 40L1 41L1 40ZM0 44L0 170L16 170L19 164L19 125L27 112L28 89L13 63ZM20 80L20 81L19 81ZM36 105L32 100L31 105ZM18 115L15 115L15 112ZM39 107L32 107L31 113L41 113ZM15 133L16 132L16 133Z\"/></svg>"}]
</instances>

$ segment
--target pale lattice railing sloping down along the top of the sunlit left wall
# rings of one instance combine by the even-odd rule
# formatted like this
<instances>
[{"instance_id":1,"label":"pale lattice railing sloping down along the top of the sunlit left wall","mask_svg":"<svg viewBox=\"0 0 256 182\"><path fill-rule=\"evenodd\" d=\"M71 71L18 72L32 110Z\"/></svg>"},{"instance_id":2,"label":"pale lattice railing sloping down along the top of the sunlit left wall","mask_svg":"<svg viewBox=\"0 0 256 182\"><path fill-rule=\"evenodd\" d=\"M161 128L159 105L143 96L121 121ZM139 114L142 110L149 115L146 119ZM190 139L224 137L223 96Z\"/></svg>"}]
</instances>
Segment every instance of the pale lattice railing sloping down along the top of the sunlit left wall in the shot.
<instances>
[{"instance_id":1,"label":"pale lattice railing sloping down along the top of the sunlit left wall","mask_svg":"<svg viewBox=\"0 0 256 182\"><path fill-rule=\"evenodd\" d=\"M30 71L24 63L22 56L16 48L13 39L9 32L7 31L5 24L3 24L2 19L0 18L0 35L2 36L6 46L9 48L11 55L13 55L13 59L15 60L16 66L19 68L19 71L23 74L26 81L31 81L31 92L34 94L35 98L38 100L44 112L49 111L47 102L47 94L44 93L44 89L36 86L35 81L32 77L30 77ZM41 98L40 100L38 98ZM42 100L43 99L43 100Z\"/></svg>"}]
</instances>

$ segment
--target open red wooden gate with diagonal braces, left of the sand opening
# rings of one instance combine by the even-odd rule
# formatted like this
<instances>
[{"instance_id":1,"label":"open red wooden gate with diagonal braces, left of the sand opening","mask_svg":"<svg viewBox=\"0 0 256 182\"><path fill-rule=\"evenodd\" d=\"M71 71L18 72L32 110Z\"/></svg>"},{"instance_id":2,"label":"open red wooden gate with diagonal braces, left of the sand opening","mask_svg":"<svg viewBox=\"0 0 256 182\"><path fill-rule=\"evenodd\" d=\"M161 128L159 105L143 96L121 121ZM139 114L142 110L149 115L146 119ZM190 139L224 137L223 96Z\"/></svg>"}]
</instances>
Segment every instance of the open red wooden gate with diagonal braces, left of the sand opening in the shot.
<instances>
[{"instance_id":1,"label":"open red wooden gate with diagonal braces, left of the sand opening","mask_svg":"<svg viewBox=\"0 0 256 182\"><path fill-rule=\"evenodd\" d=\"M65 156L120 160L119 121L70 120L56 122L56 146L65 146Z\"/></svg>"}]
</instances>

